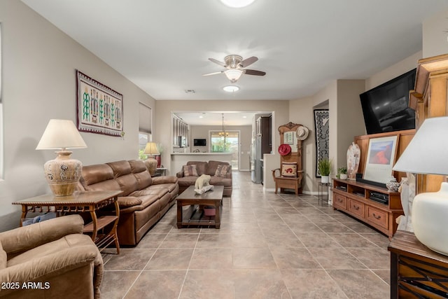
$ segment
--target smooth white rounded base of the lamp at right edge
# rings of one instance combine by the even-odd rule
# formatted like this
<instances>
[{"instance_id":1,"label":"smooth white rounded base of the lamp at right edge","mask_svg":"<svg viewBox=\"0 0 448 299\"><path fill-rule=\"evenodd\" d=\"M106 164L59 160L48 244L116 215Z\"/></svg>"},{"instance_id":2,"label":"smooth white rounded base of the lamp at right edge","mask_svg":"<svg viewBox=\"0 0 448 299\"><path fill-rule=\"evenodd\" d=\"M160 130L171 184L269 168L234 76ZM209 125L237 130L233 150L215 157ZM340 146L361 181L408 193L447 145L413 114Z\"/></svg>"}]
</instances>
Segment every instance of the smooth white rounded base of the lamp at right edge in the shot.
<instances>
[{"instance_id":1,"label":"smooth white rounded base of the lamp at right edge","mask_svg":"<svg viewBox=\"0 0 448 299\"><path fill-rule=\"evenodd\" d=\"M412 227L429 249L448 256L448 183L438 192L420 193L412 202Z\"/></svg>"}]
</instances>

